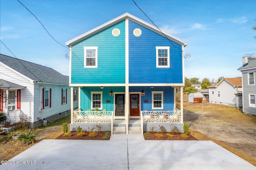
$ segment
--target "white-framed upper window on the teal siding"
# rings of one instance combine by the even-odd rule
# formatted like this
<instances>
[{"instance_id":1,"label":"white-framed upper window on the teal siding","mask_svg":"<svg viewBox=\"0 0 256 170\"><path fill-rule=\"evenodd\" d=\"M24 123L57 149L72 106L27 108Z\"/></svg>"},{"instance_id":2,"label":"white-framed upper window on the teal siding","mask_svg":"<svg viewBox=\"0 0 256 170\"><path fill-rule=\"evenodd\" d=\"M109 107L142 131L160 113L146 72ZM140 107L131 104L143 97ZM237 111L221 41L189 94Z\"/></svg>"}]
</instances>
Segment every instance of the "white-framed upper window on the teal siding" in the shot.
<instances>
[{"instance_id":1,"label":"white-framed upper window on the teal siding","mask_svg":"<svg viewBox=\"0 0 256 170\"><path fill-rule=\"evenodd\" d=\"M98 47L84 47L84 68L98 68Z\"/></svg>"}]
</instances>

